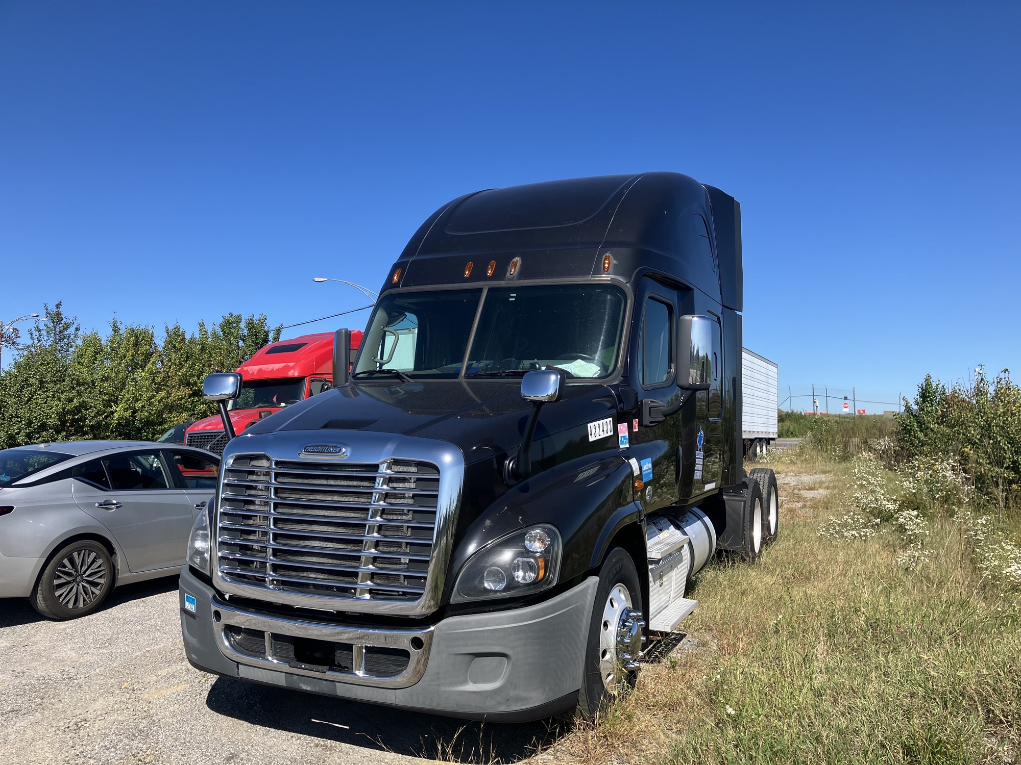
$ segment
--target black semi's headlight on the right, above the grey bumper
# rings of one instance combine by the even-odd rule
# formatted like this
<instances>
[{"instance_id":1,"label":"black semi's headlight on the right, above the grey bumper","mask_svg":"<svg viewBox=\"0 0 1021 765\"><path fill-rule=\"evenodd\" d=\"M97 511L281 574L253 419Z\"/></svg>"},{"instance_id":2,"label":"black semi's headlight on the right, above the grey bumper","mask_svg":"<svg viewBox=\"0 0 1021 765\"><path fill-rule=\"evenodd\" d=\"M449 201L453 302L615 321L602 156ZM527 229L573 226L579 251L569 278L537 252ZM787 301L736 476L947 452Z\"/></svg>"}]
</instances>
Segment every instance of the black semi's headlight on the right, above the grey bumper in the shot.
<instances>
[{"instance_id":1,"label":"black semi's headlight on the right, above the grey bumper","mask_svg":"<svg viewBox=\"0 0 1021 765\"><path fill-rule=\"evenodd\" d=\"M552 526L520 528L477 551L457 574L451 603L532 595L556 583L561 534Z\"/></svg>"}]
</instances>

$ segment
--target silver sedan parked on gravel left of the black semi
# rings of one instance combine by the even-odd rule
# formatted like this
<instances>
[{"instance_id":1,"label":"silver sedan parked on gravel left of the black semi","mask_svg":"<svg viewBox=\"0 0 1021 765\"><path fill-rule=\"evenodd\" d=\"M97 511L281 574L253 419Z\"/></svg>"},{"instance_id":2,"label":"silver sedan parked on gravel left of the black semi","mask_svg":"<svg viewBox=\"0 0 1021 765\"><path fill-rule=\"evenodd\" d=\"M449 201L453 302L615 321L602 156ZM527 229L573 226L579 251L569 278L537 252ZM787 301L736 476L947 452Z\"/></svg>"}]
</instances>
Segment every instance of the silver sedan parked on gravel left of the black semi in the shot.
<instances>
[{"instance_id":1,"label":"silver sedan parked on gravel left of the black semi","mask_svg":"<svg viewBox=\"0 0 1021 765\"><path fill-rule=\"evenodd\" d=\"M72 619L114 584L177 573L218 472L208 452L143 441L0 450L0 598Z\"/></svg>"}]
</instances>

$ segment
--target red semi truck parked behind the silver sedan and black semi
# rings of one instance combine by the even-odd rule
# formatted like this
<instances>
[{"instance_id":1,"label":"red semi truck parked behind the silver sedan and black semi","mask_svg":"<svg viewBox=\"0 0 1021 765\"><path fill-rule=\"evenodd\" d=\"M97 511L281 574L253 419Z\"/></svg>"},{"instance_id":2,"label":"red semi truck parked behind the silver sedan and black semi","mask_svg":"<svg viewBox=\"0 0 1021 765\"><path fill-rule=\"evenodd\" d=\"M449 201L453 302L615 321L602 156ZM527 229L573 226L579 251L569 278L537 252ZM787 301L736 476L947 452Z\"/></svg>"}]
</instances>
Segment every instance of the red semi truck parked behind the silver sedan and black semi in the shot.
<instances>
[{"instance_id":1,"label":"red semi truck parked behind the silver sedan and black semi","mask_svg":"<svg viewBox=\"0 0 1021 765\"><path fill-rule=\"evenodd\" d=\"M237 371L244 379L241 396L230 403L235 432L276 411L333 388L333 333L302 335L271 343L255 352ZM361 345L361 333L351 333L351 351ZM223 454L229 439L220 415L200 419L185 431L187 446Z\"/></svg>"}]
</instances>

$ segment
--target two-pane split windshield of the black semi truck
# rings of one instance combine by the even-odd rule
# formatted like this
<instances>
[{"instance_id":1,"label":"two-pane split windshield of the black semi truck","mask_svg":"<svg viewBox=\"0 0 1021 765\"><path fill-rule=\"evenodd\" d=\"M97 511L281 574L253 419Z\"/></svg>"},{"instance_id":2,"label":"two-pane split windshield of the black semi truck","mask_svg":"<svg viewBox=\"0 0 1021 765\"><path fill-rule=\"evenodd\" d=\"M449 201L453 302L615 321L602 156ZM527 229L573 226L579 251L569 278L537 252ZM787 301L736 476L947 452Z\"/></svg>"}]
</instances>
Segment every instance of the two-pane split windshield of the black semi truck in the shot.
<instances>
[{"instance_id":1,"label":"two-pane split windshield of the black semi truck","mask_svg":"<svg viewBox=\"0 0 1021 765\"><path fill-rule=\"evenodd\" d=\"M495 287L485 298L481 290L386 295L354 375L453 378L464 366L466 377L548 368L605 377L617 366L626 304L624 291L605 284Z\"/></svg>"}]
</instances>

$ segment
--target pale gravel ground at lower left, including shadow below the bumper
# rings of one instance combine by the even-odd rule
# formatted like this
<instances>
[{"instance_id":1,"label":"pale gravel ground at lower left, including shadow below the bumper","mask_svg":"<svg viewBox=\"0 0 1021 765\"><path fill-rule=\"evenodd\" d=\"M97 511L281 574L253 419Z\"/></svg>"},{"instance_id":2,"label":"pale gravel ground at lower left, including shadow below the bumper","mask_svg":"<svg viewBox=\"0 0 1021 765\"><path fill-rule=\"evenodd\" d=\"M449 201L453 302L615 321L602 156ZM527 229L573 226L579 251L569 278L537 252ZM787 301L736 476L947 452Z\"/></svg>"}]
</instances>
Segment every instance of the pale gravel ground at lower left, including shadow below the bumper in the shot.
<instances>
[{"instance_id":1,"label":"pale gravel ground at lower left, including shadow below the bumper","mask_svg":"<svg viewBox=\"0 0 1021 765\"><path fill-rule=\"evenodd\" d=\"M514 762L555 735L544 723L482 725L199 672L181 645L177 577L120 588L74 621L0 600L7 763Z\"/></svg>"}]
</instances>

